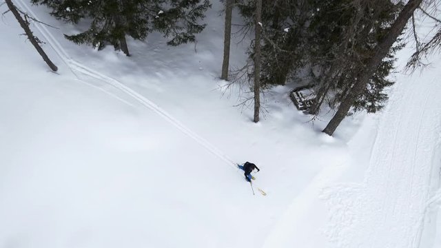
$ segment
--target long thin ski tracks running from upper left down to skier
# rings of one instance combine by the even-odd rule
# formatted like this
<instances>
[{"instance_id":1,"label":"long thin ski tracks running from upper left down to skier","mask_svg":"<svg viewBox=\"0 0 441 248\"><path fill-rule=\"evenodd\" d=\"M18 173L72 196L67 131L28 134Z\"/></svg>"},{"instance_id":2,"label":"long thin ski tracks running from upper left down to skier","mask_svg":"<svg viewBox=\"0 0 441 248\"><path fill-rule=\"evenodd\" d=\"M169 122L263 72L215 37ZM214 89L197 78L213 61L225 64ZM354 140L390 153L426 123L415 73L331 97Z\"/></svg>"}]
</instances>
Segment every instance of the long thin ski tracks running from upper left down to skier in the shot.
<instances>
[{"instance_id":1,"label":"long thin ski tracks running from upper left down to skier","mask_svg":"<svg viewBox=\"0 0 441 248\"><path fill-rule=\"evenodd\" d=\"M37 18L37 15L32 12L32 9L29 8L29 6L23 1L19 0L17 1L17 5L27 10L30 14L32 14L33 17ZM142 96L138 92L132 90L130 87L127 87L123 83L117 81L116 79L111 78L110 76L105 76L104 74L101 74L100 72L97 72L93 70L92 68L89 68L86 65L83 65L82 63L79 63L78 61L75 61L74 59L70 58L67 52L63 49L61 44L55 39L48 28L45 27L42 23L34 23L35 27L39 30L39 32L45 37L46 41L49 43L49 45L52 47L52 49L58 54L58 56L61 58L61 60L67 65L67 67L70 69L70 71L76 76L76 78L92 87L98 88L99 90L105 92L106 94L109 94L110 96L114 97L115 99L118 99L120 101L123 101L127 105L132 105L132 103L129 103L125 101L122 97L117 96L116 94L113 94L112 92L109 92L108 90L105 90L103 87L99 87L96 85L93 85L92 83L89 83L87 81L83 81L81 79L81 76L79 76L78 72L81 74L85 74L86 76L90 76L94 79L98 79L99 81L102 81L103 83L106 83L107 85L111 85L116 90L119 90L120 92L123 92L124 94L127 94L132 99L136 100L138 103L141 103L141 105L147 107L148 109L152 110L159 116L165 119L168 123L172 124L174 127L176 127L178 130L192 138L194 141L202 145L205 149L207 149L209 152L220 158L221 160L225 161L228 165L232 166L234 169L236 169L237 172L240 173L240 169L236 166L236 163L229 158L227 155L223 154L218 148L216 148L214 145L206 141L204 138L193 132L192 130L189 130L189 128L185 127L181 122L176 120L173 116L168 114L165 110L163 110L161 107L147 99L145 96ZM242 174L242 173L240 173ZM256 185L256 183L253 183ZM257 185L256 185L257 186Z\"/></svg>"}]
</instances>

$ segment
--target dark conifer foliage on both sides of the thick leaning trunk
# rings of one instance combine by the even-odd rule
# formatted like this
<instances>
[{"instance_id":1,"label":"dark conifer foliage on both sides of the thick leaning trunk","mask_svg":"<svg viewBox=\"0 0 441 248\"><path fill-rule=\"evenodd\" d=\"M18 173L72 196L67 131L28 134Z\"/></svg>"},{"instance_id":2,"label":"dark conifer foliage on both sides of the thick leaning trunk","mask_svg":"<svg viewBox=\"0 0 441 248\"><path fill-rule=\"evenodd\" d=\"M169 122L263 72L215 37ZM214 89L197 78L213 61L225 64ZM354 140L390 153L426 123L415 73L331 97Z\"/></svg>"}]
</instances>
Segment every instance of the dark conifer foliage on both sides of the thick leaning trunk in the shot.
<instances>
[{"instance_id":1,"label":"dark conifer foliage on both sides of the thick leaning trunk","mask_svg":"<svg viewBox=\"0 0 441 248\"><path fill-rule=\"evenodd\" d=\"M326 68L334 68L332 75L324 75L332 80L318 85L329 87L331 107L335 107L347 96L353 83L365 70L367 61L373 56L378 43L402 8L401 3L390 1L316 1L316 12L309 25L310 61ZM389 52L378 70L371 76L365 90L353 105L353 111L380 110L387 94L384 89L393 85L387 79L393 71L393 54L402 46L397 45Z\"/></svg>"}]
</instances>

